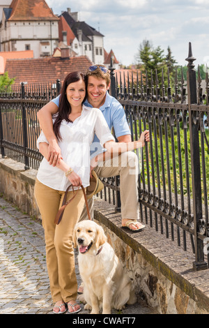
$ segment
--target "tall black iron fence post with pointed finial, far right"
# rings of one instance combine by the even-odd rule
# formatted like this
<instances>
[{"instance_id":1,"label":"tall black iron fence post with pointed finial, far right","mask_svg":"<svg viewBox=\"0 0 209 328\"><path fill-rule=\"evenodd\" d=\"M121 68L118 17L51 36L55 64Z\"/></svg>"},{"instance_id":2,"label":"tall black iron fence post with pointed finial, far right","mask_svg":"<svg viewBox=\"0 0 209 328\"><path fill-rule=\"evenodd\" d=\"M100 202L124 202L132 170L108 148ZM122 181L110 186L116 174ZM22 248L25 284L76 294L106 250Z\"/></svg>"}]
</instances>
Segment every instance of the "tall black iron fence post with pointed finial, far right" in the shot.
<instances>
[{"instance_id":1,"label":"tall black iron fence post with pointed finial, far right","mask_svg":"<svg viewBox=\"0 0 209 328\"><path fill-rule=\"evenodd\" d=\"M199 239L199 225L203 219L202 199L201 199L201 164L199 154L199 113L192 111L192 104L197 104L196 96L196 71L193 61L196 59L192 55L192 45L189 43L189 54L187 59L187 93L188 93L188 111L189 111L189 136L190 136L190 154L192 166L192 197L194 211L194 245L195 262L193 269L199 271L207 269L208 265L204 261L203 241Z\"/></svg>"}]
</instances>

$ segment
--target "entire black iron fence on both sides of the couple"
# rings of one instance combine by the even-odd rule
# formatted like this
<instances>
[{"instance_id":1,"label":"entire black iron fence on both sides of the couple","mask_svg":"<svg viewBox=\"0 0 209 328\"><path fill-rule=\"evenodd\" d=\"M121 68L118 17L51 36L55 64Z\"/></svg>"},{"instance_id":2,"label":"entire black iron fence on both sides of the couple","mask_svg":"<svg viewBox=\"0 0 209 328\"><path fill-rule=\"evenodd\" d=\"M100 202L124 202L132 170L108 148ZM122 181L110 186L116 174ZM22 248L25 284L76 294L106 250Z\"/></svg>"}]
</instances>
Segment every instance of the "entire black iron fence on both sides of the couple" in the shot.
<instances>
[{"instance_id":1,"label":"entire black iron fence on both sides of the couple","mask_svg":"<svg viewBox=\"0 0 209 328\"><path fill-rule=\"evenodd\" d=\"M123 105L130 124L132 140L138 140L145 129L150 143L139 155L139 207L141 220L167 238L193 251L195 270L207 269L209 223L209 79L206 90L194 69L189 45L186 59L187 80L183 73L171 83L162 71L121 76L111 71L111 94ZM40 127L36 113L59 94L56 85L0 91L1 155L25 163L26 169L38 168L42 156L36 149ZM103 179L100 197L120 209L120 179Z\"/></svg>"}]
</instances>

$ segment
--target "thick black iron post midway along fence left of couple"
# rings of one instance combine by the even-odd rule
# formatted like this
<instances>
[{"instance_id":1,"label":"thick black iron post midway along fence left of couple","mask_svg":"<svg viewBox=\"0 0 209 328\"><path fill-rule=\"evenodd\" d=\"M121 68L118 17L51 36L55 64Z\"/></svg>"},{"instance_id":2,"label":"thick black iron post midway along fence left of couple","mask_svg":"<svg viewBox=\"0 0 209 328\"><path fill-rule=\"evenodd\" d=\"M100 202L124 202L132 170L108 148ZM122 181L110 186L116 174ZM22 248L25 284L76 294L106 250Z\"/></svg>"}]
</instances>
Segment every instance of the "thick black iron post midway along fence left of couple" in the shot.
<instances>
[{"instance_id":1,"label":"thick black iron post midway along fence left of couple","mask_svg":"<svg viewBox=\"0 0 209 328\"><path fill-rule=\"evenodd\" d=\"M24 99L24 82L21 82L21 96ZM23 147L24 147L24 170L29 170L29 156L26 155L28 148L28 133L27 133L27 121L25 103L22 101L22 135L23 135Z\"/></svg>"}]
</instances>

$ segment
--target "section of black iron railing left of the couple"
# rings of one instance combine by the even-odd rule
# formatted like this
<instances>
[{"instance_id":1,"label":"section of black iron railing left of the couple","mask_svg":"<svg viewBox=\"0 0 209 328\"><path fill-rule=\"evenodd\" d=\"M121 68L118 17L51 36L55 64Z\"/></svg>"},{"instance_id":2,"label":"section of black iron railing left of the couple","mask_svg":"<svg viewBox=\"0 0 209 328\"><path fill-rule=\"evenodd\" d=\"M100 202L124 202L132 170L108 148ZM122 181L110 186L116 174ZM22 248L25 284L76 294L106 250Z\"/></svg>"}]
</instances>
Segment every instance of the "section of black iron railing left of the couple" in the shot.
<instances>
[{"instance_id":1,"label":"section of black iron railing left of the couple","mask_svg":"<svg viewBox=\"0 0 209 328\"><path fill-rule=\"evenodd\" d=\"M0 89L0 149L7 156L38 169L42 156L36 147L40 134L37 112L55 98L60 81L49 84L12 86Z\"/></svg>"}]
</instances>

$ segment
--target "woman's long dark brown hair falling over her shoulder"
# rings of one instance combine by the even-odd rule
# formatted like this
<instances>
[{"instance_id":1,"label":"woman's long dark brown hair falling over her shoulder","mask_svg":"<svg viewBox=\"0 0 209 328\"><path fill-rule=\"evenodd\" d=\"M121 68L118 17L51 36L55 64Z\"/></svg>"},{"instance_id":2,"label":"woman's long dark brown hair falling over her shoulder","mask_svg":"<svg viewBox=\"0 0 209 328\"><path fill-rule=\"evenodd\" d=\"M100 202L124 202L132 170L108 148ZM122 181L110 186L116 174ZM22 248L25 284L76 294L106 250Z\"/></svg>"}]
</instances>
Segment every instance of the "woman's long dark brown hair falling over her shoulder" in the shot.
<instances>
[{"instance_id":1,"label":"woman's long dark brown hair falling over her shoulder","mask_svg":"<svg viewBox=\"0 0 209 328\"><path fill-rule=\"evenodd\" d=\"M56 119L53 125L54 134L56 135L56 138L58 140L61 140L61 134L59 131L59 128L61 126L61 121L65 119L65 121L72 122L68 118L69 114L71 113L71 106L66 96L66 89L70 83L78 82L79 80L83 80L86 85L86 76L83 73L72 72L65 77L65 80L63 82L63 86L61 88L61 96L59 99L59 110L58 113L56 114ZM85 100L86 97L84 98L82 104L84 103Z\"/></svg>"}]
</instances>

